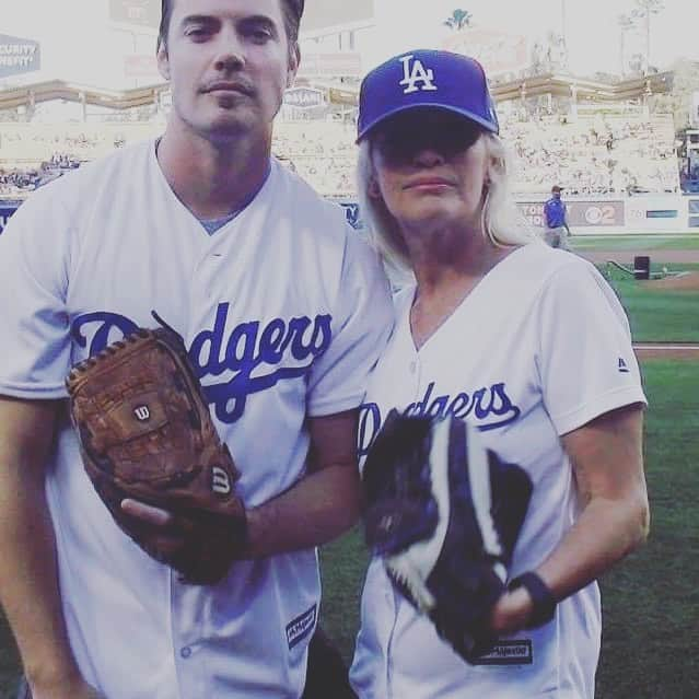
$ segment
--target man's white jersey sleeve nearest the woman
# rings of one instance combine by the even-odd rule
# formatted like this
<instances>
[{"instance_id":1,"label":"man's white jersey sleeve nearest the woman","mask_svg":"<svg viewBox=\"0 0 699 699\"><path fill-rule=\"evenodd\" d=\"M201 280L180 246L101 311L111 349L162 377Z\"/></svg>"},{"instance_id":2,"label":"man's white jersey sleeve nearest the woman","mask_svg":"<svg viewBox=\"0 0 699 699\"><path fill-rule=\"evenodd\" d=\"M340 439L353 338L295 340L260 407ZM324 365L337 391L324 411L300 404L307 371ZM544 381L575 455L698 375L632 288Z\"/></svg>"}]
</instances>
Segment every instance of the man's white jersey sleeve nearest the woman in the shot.
<instances>
[{"instance_id":1,"label":"man's white jersey sleeve nearest the woman","mask_svg":"<svg viewBox=\"0 0 699 699\"><path fill-rule=\"evenodd\" d=\"M358 233L349 230L347 235L333 339L308 381L311 417L359 407L393 329L391 289L378 257Z\"/></svg>"}]
</instances>

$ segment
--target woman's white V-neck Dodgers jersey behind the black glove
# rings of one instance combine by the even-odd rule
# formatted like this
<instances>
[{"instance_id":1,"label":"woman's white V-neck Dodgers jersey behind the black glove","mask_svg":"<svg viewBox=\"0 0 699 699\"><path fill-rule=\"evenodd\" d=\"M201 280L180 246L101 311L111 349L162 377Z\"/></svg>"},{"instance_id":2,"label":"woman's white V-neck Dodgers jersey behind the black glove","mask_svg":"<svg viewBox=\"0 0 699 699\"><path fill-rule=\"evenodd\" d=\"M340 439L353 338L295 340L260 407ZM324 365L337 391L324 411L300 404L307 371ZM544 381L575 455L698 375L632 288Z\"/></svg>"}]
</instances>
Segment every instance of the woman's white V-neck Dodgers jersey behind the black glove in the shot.
<instances>
[{"instance_id":1,"label":"woman's white V-neck Dodgers jersey behind the black glove","mask_svg":"<svg viewBox=\"0 0 699 699\"><path fill-rule=\"evenodd\" d=\"M370 382L360 423L365 452L392 408L454 415L477 424L486 446L526 469L534 492L512 576L551 552L578 514L560 435L613 408L644 403L629 326L589 263L535 242L491 269L416 351L415 288ZM555 619L503 638L467 665L396 592L373 559L362 597L351 680L361 699L592 699L599 653L596 584L561 602Z\"/></svg>"}]
</instances>

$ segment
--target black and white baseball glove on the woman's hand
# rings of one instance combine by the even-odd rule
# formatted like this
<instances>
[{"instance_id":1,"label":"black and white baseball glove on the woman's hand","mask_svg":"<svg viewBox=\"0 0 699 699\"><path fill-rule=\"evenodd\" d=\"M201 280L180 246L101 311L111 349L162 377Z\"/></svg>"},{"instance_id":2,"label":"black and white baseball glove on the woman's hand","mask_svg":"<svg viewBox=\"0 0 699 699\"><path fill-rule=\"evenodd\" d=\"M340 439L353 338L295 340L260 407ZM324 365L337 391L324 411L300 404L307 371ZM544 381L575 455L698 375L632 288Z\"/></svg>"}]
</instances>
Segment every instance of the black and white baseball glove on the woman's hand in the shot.
<instances>
[{"instance_id":1,"label":"black and white baseball glove on the woman's hand","mask_svg":"<svg viewBox=\"0 0 699 699\"><path fill-rule=\"evenodd\" d=\"M457 418L393 410L362 481L366 544L389 578L464 660L488 653L532 494L527 474Z\"/></svg>"}]
</instances>

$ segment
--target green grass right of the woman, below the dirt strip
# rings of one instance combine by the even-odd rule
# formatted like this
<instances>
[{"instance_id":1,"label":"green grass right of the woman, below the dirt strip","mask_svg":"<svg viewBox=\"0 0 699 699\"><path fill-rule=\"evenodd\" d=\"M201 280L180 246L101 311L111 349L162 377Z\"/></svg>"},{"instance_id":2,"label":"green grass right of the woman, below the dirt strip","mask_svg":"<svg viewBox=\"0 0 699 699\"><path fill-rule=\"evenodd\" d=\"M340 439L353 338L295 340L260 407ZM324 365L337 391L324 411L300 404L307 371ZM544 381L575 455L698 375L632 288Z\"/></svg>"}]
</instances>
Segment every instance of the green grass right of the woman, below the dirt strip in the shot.
<instances>
[{"instance_id":1,"label":"green grass right of the woman, below the dirt strip","mask_svg":"<svg viewBox=\"0 0 699 699\"><path fill-rule=\"evenodd\" d=\"M651 536L603 581L601 699L699 697L699 363L643 364Z\"/></svg>"}]
</instances>

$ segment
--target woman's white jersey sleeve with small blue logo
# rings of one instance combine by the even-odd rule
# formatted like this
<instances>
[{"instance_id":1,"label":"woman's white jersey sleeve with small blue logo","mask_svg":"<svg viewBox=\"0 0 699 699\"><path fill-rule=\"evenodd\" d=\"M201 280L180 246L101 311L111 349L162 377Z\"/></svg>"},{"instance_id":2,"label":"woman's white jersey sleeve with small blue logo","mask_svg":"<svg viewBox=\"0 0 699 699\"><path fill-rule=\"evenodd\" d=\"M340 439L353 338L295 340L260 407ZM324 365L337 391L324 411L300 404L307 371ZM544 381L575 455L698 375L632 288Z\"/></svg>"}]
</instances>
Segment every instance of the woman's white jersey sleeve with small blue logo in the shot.
<instances>
[{"instance_id":1,"label":"woman's white jersey sleeve with small blue logo","mask_svg":"<svg viewBox=\"0 0 699 699\"><path fill-rule=\"evenodd\" d=\"M559 435L615 408L646 404L626 313L592 265L575 260L554 273L538 328L538 380Z\"/></svg>"}]
</instances>

